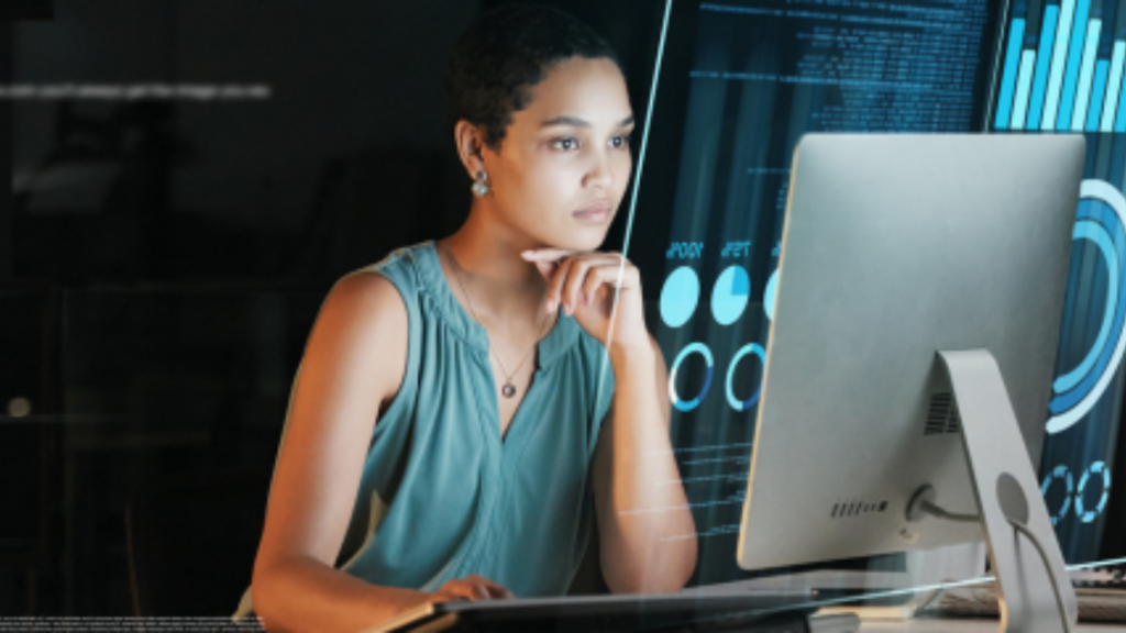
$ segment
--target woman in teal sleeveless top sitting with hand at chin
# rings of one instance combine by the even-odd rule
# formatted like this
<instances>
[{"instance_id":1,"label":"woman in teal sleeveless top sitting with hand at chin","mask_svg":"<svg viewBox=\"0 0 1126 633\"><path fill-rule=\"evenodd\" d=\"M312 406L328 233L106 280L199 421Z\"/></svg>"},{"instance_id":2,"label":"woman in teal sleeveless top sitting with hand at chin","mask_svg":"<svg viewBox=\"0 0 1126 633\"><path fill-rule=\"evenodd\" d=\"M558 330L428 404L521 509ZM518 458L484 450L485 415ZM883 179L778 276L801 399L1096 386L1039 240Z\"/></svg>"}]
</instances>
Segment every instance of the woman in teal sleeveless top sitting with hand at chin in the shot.
<instances>
[{"instance_id":1,"label":"woman in teal sleeveless top sitting with hand at chin","mask_svg":"<svg viewBox=\"0 0 1126 633\"><path fill-rule=\"evenodd\" d=\"M502 7L458 41L447 99L470 216L322 306L253 570L270 630L561 595L596 528L613 591L676 591L696 564L640 276L595 250L633 166L614 52Z\"/></svg>"}]
</instances>

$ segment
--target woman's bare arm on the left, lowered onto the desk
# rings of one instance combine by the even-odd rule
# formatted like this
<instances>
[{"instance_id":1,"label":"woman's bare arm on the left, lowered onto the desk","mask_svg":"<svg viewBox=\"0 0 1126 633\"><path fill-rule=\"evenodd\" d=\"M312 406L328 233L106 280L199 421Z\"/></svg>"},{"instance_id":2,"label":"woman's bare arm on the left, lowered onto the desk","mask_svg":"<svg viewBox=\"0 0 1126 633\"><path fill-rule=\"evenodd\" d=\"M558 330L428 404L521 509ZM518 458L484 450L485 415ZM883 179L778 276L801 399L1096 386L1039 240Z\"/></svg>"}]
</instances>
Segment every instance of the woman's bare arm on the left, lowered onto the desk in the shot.
<instances>
[{"instance_id":1,"label":"woman's bare arm on the left, lowered onto the desk","mask_svg":"<svg viewBox=\"0 0 1126 633\"><path fill-rule=\"evenodd\" d=\"M333 568L376 418L403 380L406 335L402 297L377 275L341 279L318 315L254 560L251 596L269 631L355 632L426 601L502 595L484 579L452 581L436 595Z\"/></svg>"}]
</instances>

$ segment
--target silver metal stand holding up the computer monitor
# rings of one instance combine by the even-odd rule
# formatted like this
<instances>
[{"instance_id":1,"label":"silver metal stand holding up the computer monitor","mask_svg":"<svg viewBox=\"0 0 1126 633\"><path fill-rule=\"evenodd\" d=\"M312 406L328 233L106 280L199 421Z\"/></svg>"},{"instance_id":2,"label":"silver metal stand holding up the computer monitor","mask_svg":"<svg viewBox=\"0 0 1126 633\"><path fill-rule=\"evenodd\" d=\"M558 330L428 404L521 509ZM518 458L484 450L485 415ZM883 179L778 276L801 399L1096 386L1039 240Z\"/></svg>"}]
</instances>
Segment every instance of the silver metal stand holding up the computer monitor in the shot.
<instances>
[{"instance_id":1,"label":"silver metal stand holding up the computer monitor","mask_svg":"<svg viewBox=\"0 0 1126 633\"><path fill-rule=\"evenodd\" d=\"M982 524L997 576L999 631L1065 633L1079 619L1075 592L997 360L984 349L939 351L938 356L962 419L963 446L981 512L968 518ZM941 516L942 510L929 514ZM946 518L955 517L947 512ZM1025 526L1039 547L1010 519ZM1049 573L1058 582L1055 588ZM1066 628L1060 601L1066 606Z\"/></svg>"}]
</instances>

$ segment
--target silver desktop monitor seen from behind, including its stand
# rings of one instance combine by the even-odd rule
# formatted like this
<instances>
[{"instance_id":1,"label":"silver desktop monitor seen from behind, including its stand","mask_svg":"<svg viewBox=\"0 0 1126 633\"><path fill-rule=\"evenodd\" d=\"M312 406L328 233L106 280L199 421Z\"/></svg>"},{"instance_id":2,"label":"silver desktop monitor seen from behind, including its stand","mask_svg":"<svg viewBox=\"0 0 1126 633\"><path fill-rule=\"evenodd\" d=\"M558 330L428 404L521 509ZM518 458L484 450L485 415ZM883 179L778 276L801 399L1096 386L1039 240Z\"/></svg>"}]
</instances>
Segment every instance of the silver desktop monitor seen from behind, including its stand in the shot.
<instances>
[{"instance_id":1,"label":"silver desktop monitor seen from behind, including its stand","mask_svg":"<svg viewBox=\"0 0 1126 633\"><path fill-rule=\"evenodd\" d=\"M986 540L1010 621L1056 610L1044 571L1063 559L1034 464L1084 149L1080 135L803 137L740 567ZM1007 578L1012 564L1031 580Z\"/></svg>"}]
</instances>

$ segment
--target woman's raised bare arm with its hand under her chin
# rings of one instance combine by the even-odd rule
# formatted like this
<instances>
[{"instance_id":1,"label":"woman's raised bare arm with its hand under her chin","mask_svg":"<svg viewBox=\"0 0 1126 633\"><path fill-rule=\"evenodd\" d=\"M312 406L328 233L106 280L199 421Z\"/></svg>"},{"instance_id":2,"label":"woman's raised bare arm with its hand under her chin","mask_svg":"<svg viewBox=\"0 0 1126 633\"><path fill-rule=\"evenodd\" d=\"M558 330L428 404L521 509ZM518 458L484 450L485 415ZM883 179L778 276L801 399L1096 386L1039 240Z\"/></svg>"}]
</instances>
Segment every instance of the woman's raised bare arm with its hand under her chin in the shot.
<instances>
[{"instance_id":1,"label":"woman's raised bare arm with its hand under her chin","mask_svg":"<svg viewBox=\"0 0 1126 633\"><path fill-rule=\"evenodd\" d=\"M641 273L616 252L522 256L547 280L545 309L572 314L614 365L614 402L593 460L606 583L615 592L677 591L696 568L696 523L669 442L664 356L645 328Z\"/></svg>"}]
</instances>

